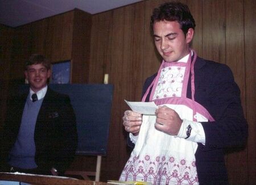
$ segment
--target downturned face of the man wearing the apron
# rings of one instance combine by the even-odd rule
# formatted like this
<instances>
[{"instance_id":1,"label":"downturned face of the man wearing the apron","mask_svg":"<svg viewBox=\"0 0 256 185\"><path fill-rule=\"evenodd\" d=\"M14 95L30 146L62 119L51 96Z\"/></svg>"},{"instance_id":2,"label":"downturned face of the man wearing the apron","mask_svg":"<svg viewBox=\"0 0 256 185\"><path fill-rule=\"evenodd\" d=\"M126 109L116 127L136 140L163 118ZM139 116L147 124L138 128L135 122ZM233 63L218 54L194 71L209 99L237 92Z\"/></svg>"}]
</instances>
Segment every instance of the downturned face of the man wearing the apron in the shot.
<instances>
[{"instance_id":1,"label":"downturned face of the man wearing the apron","mask_svg":"<svg viewBox=\"0 0 256 185\"><path fill-rule=\"evenodd\" d=\"M193 29L189 28L186 36L180 24L174 21L159 21L153 26L155 46L166 62L175 62L189 53L189 42L193 38Z\"/></svg>"}]
</instances>

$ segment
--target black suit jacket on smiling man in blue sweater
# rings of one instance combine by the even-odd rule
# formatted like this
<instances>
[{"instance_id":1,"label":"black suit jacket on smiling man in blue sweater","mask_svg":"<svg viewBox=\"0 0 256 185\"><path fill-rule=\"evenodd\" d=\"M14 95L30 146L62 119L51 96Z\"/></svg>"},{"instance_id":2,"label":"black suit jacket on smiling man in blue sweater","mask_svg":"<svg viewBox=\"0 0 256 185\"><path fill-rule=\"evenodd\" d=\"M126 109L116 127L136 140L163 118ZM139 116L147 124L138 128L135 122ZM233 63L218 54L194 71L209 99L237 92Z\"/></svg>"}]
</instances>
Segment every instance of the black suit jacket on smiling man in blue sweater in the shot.
<instances>
[{"instance_id":1,"label":"black suit jacket on smiling man in blue sweater","mask_svg":"<svg viewBox=\"0 0 256 185\"><path fill-rule=\"evenodd\" d=\"M18 136L27 95L10 101L0 141L2 169L7 166L9 152ZM48 172L55 167L60 173L64 173L77 148L75 113L67 95L56 93L48 87L36 120L34 140L38 169Z\"/></svg>"}]
</instances>

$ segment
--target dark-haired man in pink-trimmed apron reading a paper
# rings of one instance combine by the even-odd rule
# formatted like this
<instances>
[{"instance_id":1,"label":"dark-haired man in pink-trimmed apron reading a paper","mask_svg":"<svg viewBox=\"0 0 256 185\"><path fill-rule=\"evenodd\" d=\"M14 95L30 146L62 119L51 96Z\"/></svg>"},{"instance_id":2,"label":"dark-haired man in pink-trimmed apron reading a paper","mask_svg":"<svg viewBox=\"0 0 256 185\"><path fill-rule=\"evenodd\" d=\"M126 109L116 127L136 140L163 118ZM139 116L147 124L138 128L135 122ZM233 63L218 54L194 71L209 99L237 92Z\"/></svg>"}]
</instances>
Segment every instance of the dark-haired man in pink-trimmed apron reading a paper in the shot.
<instances>
[{"instance_id":1,"label":"dark-haired man in pink-trimmed apron reading a paper","mask_svg":"<svg viewBox=\"0 0 256 185\"><path fill-rule=\"evenodd\" d=\"M125 111L123 125L135 147L120 180L228 184L223 150L242 146L247 138L233 74L189 47L195 20L187 5L159 6L151 28L163 62L146 79L142 102L155 102L158 109L155 115Z\"/></svg>"}]
</instances>

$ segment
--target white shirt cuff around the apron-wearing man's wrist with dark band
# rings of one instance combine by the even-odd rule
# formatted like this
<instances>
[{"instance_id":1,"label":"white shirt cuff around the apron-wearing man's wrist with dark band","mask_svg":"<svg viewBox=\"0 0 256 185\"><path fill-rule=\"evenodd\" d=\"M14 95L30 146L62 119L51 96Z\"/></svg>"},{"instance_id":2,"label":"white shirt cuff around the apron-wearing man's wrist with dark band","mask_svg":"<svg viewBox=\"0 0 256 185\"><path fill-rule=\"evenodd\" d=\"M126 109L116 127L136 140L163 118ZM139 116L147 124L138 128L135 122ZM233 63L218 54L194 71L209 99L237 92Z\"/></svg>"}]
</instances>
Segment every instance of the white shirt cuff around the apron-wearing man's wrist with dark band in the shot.
<instances>
[{"instance_id":1,"label":"white shirt cuff around the apron-wearing man's wrist with dark band","mask_svg":"<svg viewBox=\"0 0 256 185\"><path fill-rule=\"evenodd\" d=\"M205 145L205 133L204 133L203 125L196 121L189 121L189 120L183 119L183 122L180 127L180 131L176 137L186 138L188 125L191 126L192 130L191 130L190 136L186 140L193 141L193 142L200 142L201 144Z\"/></svg>"}]
</instances>

